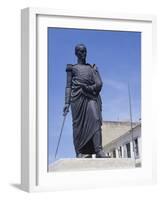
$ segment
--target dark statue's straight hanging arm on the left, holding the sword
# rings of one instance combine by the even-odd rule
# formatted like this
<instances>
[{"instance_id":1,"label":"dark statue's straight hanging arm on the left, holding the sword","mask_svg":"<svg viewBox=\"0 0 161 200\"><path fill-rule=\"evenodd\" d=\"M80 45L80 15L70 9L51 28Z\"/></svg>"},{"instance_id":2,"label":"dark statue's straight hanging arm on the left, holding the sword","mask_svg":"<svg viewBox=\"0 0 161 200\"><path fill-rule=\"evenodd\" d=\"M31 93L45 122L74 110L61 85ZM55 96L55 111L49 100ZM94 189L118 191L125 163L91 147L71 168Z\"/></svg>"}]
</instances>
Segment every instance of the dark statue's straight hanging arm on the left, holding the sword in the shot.
<instances>
[{"instance_id":1,"label":"dark statue's straight hanging arm on the left, holding the sword","mask_svg":"<svg viewBox=\"0 0 161 200\"><path fill-rule=\"evenodd\" d=\"M63 114L66 115L69 112L70 99L71 99L71 86L72 86L72 65L67 65L66 68L67 73L67 81L65 88L65 106L63 110Z\"/></svg>"}]
</instances>

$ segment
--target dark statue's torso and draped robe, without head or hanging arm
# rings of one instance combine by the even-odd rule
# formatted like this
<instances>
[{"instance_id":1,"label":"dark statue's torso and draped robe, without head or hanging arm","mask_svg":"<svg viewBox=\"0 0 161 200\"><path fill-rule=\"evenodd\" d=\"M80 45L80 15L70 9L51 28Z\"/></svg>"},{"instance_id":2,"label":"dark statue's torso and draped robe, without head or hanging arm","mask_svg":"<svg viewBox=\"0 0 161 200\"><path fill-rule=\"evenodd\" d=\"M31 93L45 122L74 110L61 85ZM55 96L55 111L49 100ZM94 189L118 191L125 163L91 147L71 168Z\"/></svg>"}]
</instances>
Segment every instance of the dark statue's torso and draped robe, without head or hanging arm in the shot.
<instances>
[{"instance_id":1,"label":"dark statue's torso and draped robe, without head or hanging arm","mask_svg":"<svg viewBox=\"0 0 161 200\"><path fill-rule=\"evenodd\" d=\"M102 103L99 92L102 81L95 66L71 65L71 111L73 119L73 142L76 153L95 153L92 137L102 125Z\"/></svg>"}]
</instances>

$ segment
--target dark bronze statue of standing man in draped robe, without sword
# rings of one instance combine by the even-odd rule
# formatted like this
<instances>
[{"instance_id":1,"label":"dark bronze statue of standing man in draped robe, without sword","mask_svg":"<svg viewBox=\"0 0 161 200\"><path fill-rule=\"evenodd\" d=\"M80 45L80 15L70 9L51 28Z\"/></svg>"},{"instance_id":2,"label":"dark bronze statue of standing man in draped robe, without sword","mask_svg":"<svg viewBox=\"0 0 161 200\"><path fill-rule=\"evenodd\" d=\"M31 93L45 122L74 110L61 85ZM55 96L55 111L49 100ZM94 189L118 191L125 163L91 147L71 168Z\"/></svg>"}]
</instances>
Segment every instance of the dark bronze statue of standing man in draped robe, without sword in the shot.
<instances>
[{"instance_id":1,"label":"dark bronze statue of standing man in draped robe, without sword","mask_svg":"<svg viewBox=\"0 0 161 200\"><path fill-rule=\"evenodd\" d=\"M64 116L71 105L73 142L76 157L107 158L102 149L102 80L96 65L86 63L87 48L84 44L75 47L78 62L68 64L65 90Z\"/></svg>"}]
</instances>

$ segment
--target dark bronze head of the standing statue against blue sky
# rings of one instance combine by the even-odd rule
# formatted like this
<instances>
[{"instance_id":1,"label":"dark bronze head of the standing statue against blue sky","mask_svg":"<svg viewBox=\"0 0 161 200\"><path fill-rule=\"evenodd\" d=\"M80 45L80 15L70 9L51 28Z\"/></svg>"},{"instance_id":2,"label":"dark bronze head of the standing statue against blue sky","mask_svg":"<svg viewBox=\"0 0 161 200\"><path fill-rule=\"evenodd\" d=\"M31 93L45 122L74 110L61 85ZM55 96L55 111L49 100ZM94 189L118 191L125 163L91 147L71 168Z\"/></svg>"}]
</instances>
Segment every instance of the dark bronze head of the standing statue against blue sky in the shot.
<instances>
[{"instance_id":1,"label":"dark bronze head of the standing statue against blue sky","mask_svg":"<svg viewBox=\"0 0 161 200\"><path fill-rule=\"evenodd\" d=\"M77 44L75 47L75 55L80 60L86 59L87 56L87 48L84 44Z\"/></svg>"}]
</instances>

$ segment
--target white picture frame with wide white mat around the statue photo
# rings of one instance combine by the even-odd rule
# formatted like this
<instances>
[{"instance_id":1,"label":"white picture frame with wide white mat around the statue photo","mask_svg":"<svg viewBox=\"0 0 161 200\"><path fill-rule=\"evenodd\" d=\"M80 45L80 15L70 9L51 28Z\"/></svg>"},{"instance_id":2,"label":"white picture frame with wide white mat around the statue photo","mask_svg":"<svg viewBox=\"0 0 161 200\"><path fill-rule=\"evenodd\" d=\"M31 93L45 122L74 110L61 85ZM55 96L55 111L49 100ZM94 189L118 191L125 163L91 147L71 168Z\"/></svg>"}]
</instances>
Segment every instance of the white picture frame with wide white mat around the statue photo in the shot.
<instances>
[{"instance_id":1,"label":"white picture frame with wide white mat around the statue photo","mask_svg":"<svg viewBox=\"0 0 161 200\"><path fill-rule=\"evenodd\" d=\"M141 31L143 33L142 137L144 143L141 168L47 172L47 96L45 95L47 94L47 53L45 52L47 52L46 28L48 26ZM153 67L155 67L155 29L156 19L152 15L91 13L43 8L22 10L21 187L23 190L29 192L54 191L155 183L155 134L149 137L154 120L150 108L152 104L151 77L153 76ZM39 60L39 58L41 59Z\"/></svg>"}]
</instances>

